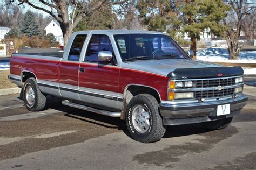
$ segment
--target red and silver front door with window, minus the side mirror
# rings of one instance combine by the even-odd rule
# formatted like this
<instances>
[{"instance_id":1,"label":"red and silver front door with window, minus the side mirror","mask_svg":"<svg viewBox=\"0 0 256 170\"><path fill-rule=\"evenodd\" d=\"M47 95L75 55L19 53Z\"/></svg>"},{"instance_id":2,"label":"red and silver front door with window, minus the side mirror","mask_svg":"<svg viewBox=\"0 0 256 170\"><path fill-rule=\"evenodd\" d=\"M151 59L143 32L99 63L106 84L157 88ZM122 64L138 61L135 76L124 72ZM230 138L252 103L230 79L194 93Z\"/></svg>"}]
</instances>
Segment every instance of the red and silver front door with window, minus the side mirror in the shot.
<instances>
[{"instance_id":1,"label":"red and silver front door with window, minus the side mirror","mask_svg":"<svg viewBox=\"0 0 256 170\"><path fill-rule=\"evenodd\" d=\"M113 61L98 60L100 51L111 51ZM120 68L116 60L109 36L92 34L86 48L84 61L80 63L79 96L84 102L102 105L107 108L118 108L118 76Z\"/></svg>"}]
</instances>

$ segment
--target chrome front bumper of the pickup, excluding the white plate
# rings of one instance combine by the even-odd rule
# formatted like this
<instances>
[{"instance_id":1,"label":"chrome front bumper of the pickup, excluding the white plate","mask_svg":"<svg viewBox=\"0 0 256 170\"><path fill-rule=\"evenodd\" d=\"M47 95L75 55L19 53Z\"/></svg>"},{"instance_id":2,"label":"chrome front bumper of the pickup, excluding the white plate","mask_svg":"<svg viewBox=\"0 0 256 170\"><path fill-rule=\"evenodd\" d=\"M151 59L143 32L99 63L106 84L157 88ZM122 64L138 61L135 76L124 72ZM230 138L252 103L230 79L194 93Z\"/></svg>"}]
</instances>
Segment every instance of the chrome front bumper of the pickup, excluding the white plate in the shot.
<instances>
[{"instance_id":1,"label":"chrome front bumper of the pickup, excluding the white plate","mask_svg":"<svg viewBox=\"0 0 256 170\"><path fill-rule=\"evenodd\" d=\"M205 101L203 103L160 103L160 113L163 116L164 125L200 123L233 117L240 113L247 100L246 95L241 95L237 98ZM217 116L217 106L223 104L231 104L230 114Z\"/></svg>"}]
</instances>

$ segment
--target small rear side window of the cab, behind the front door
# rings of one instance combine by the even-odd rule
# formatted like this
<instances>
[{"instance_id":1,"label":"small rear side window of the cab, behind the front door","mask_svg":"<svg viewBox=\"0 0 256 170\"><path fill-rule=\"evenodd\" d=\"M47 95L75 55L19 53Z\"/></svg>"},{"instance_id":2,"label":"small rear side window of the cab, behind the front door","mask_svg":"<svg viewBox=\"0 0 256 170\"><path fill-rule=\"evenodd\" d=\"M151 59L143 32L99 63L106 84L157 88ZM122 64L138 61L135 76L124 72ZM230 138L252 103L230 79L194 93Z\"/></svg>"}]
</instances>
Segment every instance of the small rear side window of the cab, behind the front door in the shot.
<instances>
[{"instance_id":1,"label":"small rear side window of the cab, behind the front door","mask_svg":"<svg viewBox=\"0 0 256 170\"><path fill-rule=\"evenodd\" d=\"M86 34L80 34L75 37L70 47L68 56L69 61L79 61L80 53L82 51L86 36Z\"/></svg>"}]
</instances>

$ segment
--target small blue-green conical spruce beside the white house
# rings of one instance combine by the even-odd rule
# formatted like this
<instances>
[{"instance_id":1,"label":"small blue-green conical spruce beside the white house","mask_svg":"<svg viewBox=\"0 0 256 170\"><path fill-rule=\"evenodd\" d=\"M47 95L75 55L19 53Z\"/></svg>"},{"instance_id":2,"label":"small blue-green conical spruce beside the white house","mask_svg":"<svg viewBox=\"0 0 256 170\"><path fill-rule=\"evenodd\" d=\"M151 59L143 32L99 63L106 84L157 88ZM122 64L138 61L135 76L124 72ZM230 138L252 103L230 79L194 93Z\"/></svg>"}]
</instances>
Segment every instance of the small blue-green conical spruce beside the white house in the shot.
<instances>
[{"instance_id":1,"label":"small blue-green conical spruce beside the white house","mask_svg":"<svg viewBox=\"0 0 256 170\"><path fill-rule=\"evenodd\" d=\"M21 33L26 34L28 37L41 36L38 24L35 21L35 15L30 10L26 11L21 22Z\"/></svg>"}]
</instances>

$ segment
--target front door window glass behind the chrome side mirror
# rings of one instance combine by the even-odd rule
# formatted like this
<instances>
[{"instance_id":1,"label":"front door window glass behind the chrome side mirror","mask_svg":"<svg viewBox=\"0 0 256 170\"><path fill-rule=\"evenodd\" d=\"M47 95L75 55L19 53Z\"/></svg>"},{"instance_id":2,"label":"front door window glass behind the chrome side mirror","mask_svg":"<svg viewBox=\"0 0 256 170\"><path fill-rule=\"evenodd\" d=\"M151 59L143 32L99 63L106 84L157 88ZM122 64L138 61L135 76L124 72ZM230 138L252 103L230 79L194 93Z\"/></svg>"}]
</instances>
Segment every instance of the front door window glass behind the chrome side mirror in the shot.
<instances>
[{"instance_id":1,"label":"front door window glass behind the chrome side mirror","mask_svg":"<svg viewBox=\"0 0 256 170\"><path fill-rule=\"evenodd\" d=\"M100 51L111 51L114 56L109 36L103 34L93 34L87 46L84 61L99 62L98 53Z\"/></svg>"}]
</instances>

